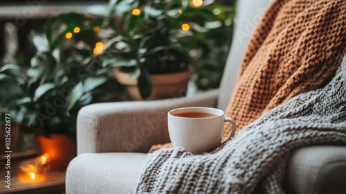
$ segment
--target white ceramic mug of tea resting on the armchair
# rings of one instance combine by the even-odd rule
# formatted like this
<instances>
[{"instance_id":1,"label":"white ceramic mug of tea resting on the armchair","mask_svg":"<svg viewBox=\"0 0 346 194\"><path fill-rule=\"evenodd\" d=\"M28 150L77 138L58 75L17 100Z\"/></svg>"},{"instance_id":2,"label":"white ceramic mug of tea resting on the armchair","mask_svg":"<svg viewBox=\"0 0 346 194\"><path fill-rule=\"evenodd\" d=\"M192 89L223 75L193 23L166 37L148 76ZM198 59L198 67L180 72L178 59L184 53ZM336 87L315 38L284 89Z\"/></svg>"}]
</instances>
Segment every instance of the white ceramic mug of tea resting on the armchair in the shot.
<instances>
[{"instance_id":1,"label":"white ceramic mug of tea resting on the armchair","mask_svg":"<svg viewBox=\"0 0 346 194\"><path fill-rule=\"evenodd\" d=\"M212 116L192 118L176 114L205 112ZM190 152L201 154L219 148L235 135L236 125L233 118L224 118L221 109L210 107L184 107L168 112L168 132L174 147L181 147ZM232 132L222 141L224 122L232 124Z\"/></svg>"}]
</instances>

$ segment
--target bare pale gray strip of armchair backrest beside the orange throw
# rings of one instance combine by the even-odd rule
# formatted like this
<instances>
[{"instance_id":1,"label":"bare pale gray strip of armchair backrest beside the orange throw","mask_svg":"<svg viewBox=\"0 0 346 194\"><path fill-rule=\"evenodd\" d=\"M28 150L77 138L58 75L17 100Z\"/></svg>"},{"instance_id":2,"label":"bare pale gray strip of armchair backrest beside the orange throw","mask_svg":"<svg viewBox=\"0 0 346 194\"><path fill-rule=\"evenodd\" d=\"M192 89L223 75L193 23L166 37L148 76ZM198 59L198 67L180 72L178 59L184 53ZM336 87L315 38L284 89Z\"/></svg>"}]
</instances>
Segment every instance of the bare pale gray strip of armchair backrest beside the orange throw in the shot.
<instances>
[{"instance_id":1,"label":"bare pale gray strip of armchair backrest beside the orange throw","mask_svg":"<svg viewBox=\"0 0 346 194\"><path fill-rule=\"evenodd\" d=\"M233 42L219 88L219 109L225 110L229 103L248 39L270 2L271 0L238 0Z\"/></svg>"}]
</instances>

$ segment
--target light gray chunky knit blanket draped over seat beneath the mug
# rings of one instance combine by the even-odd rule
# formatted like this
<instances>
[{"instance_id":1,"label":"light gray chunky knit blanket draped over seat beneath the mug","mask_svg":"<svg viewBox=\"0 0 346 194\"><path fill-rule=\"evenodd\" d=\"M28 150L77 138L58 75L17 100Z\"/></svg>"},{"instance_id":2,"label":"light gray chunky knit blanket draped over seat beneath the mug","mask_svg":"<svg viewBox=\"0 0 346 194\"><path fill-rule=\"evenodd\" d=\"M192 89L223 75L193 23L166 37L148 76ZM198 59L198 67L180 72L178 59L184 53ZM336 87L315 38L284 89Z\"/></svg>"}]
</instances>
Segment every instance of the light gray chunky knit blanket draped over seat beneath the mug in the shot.
<instances>
[{"instance_id":1,"label":"light gray chunky knit blanket draped over seat beneath the mug","mask_svg":"<svg viewBox=\"0 0 346 194\"><path fill-rule=\"evenodd\" d=\"M219 151L182 148L149 154L136 193L284 193L290 152L309 145L346 145L346 55L322 89L295 96L246 126Z\"/></svg>"}]
</instances>

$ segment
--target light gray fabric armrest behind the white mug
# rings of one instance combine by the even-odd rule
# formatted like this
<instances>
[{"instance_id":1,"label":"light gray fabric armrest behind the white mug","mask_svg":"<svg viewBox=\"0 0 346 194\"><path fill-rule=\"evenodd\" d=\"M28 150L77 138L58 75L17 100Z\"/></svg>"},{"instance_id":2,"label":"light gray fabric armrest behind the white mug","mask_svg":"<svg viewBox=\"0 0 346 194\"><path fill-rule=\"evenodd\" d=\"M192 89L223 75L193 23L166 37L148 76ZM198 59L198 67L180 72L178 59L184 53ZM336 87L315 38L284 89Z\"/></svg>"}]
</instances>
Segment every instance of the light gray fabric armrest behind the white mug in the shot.
<instances>
[{"instance_id":1,"label":"light gray fabric armrest behind the white mug","mask_svg":"<svg viewBox=\"0 0 346 194\"><path fill-rule=\"evenodd\" d=\"M78 155L93 152L147 152L170 141L167 112L188 106L216 107L218 90L194 97L152 101L97 103L80 109Z\"/></svg>"}]
</instances>

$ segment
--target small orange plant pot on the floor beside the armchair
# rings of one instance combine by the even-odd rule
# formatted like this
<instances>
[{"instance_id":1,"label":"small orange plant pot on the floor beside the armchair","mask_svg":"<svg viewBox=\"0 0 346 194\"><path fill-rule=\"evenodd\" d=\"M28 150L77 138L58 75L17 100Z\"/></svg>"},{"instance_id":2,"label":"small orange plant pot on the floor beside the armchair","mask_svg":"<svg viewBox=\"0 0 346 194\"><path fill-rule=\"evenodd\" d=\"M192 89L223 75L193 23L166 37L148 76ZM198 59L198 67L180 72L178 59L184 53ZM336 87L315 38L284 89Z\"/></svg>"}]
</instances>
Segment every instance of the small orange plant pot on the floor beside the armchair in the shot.
<instances>
[{"instance_id":1,"label":"small orange plant pot on the floor beside the armchair","mask_svg":"<svg viewBox=\"0 0 346 194\"><path fill-rule=\"evenodd\" d=\"M49 155L52 170L66 170L69 162L77 156L77 145L64 134L51 134L51 138L37 136L42 154Z\"/></svg>"}]
</instances>

